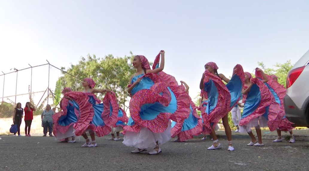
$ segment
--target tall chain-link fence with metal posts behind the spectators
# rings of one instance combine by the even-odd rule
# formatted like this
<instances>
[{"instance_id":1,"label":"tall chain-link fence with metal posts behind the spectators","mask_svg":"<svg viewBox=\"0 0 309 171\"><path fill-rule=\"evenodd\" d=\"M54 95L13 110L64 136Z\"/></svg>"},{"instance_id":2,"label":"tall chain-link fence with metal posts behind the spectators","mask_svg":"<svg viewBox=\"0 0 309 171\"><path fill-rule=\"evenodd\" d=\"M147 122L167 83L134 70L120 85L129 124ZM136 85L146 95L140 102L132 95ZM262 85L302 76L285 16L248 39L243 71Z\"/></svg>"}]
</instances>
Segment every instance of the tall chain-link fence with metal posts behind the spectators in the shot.
<instances>
[{"instance_id":1,"label":"tall chain-link fence with metal posts behind the spectators","mask_svg":"<svg viewBox=\"0 0 309 171\"><path fill-rule=\"evenodd\" d=\"M36 107L34 115L40 115L46 104L59 107L61 83L58 80L61 76L70 75L69 73L48 61L46 64L29 65L24 69L12 68L11 71L2 71L0 75L0 118L12 117L17 103L21 103L24 108L26 102L31 102ZM80 83L76 76L70 77L75 78L76 85Z\"/></svg>"}]
</instances>

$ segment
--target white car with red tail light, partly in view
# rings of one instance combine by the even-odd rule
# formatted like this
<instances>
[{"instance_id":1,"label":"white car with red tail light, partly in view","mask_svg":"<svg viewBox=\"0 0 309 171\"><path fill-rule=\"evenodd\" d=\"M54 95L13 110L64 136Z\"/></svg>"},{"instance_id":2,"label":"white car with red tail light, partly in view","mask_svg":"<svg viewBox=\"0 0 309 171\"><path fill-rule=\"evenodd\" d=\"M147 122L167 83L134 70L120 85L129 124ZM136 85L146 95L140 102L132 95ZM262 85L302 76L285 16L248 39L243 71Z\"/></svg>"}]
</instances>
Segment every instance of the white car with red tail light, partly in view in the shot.
<instances>
[{"instance_id":1,"label":"white car with red tail light, partly in view","mask_svg":"<svg viewBox=\"0 0 309 171\"><path fill-rule=\"evenodd\" d=\"M309 51L288 73L284 108L286 118L294 126L309 127Z\"/></svg>"}]
</instances>

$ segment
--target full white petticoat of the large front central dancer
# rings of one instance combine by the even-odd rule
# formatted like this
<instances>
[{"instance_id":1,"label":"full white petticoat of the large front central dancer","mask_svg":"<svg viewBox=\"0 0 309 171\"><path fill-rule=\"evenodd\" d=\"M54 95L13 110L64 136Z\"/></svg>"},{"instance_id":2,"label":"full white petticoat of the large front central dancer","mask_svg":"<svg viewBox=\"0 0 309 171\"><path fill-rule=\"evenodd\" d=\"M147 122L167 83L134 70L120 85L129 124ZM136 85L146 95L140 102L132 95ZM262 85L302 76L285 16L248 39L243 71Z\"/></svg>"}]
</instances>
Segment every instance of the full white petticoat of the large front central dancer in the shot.
<instances>
[{"instance_id":1,"label":"full white petticoat of the large front central dancer","mask_svg":"<svg viewBox=\"0 0 309 171\"><path fill-rule=\"evenodd\" d=\"M140 132L126 131L123 144L139 149L154 149L156 142L164 144L171 139L171 122L168 123L166 130L162 133L153 133L148 128L143 127Z\"/></svg>"}]
</instances>

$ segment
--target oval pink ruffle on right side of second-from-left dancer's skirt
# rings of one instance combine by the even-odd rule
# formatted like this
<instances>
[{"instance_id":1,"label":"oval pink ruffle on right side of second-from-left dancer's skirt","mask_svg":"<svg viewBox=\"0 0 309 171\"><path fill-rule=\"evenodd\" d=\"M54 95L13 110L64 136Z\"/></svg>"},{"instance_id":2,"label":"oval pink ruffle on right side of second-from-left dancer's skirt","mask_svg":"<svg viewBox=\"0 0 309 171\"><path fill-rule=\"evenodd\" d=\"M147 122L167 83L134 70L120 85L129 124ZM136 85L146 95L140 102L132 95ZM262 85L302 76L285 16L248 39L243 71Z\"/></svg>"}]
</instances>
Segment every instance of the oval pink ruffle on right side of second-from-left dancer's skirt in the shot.
<instances>
[{"instance_id":1,"label":"oval pink ruffle on right side of second-from-left dancer's skirt","mask_svg":"<svg viewBox=\"0 0 309 171\"><path fill-rule=\"evenodd\" d=\"M112 105L112 114L110 113L110 104ZM107 92L103 99L104 110L102 112L102 119L107 126L115 125L118 120L118 104L115 92Z\"/></svg>"}]
</instances>

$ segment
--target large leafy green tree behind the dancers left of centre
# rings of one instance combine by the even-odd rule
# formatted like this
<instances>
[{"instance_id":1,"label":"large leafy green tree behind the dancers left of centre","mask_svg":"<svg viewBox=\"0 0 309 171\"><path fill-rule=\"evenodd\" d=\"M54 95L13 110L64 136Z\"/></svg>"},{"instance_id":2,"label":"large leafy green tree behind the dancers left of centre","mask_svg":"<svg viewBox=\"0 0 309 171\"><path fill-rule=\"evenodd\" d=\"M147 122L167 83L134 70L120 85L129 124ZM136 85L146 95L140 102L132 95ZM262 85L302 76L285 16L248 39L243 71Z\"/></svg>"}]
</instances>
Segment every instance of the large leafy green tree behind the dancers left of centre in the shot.
<instances>
[{"instance_id":1,"label":"large leafy green tree behind the dancers left of centre","mask_svg":"<svg viewBox=\"0 0 309 171\"><path fill-rule=\"evenodd\" d=\"M71 75L76 75L77 79L65 72L59 78L61 87L70 87L73 90L83 90L81 80L90 77L96 83L97 88L107 88L114 91L119 99L120 104L125 105L129 93L127 86L130 76L135 72L132 65L133 53L129 56L115 58L113 55L106 55L103 59L97 58L95 55L87 55L87 58L82 59L76 65L71 65L66 72ZM65 70L64 67L61 69ZM76 84L76 80L79 82ZM98 95L103 97L103 95Z\"/></svg>"}]
</instances>

